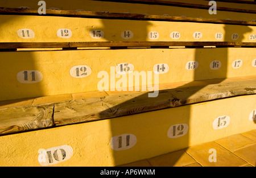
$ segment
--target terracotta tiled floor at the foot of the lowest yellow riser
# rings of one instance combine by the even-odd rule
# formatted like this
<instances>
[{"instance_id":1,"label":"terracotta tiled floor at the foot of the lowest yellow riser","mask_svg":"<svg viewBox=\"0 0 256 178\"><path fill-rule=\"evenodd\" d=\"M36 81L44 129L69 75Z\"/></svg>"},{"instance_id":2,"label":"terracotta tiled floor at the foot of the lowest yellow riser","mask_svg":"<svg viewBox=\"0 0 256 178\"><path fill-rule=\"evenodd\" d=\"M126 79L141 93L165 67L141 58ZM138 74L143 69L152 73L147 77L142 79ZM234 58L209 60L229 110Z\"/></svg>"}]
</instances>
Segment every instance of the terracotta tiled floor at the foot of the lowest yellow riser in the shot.
<instances>
[{"instance_id":1,"label":"terracotta tiled floor at the foot of the lowest yellow riser","mask_svg":"<svg viewBox=\"0 0 256 178\"><path fill-rule=\"evenodd\" d=\"M212 150L211 150L212 149ZM214 150L213 150L214 149ZM214 157L216 160L214 160ZM215 162L216 161L216 162ZM139 160L133 167L255 167L256 130Z\"/></svg>"}]
</instances>

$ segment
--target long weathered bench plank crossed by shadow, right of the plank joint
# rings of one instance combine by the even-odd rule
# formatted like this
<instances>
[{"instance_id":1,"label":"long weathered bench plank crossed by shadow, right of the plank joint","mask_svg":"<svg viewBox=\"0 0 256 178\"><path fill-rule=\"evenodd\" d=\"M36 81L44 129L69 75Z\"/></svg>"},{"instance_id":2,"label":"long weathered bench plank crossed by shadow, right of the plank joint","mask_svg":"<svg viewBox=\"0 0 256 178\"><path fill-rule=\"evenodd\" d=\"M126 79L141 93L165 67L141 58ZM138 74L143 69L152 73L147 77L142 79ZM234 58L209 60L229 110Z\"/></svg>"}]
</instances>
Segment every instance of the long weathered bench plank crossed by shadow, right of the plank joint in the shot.
<instances>
[{"instance_id":1,"label":"long weathered bench plank crossed by shadow, right of the plank joint","mask_svg":"<svg viewBox=\"0 0 256 178\"><path fill-rule=\"evenodd\" d=\"M61 102L55 105L54 123L59 126L95 121L255 93L256 80L251 80L160 90L155 98L149 98L148 93L134 93Z\"/></svg>"}]
</instances>

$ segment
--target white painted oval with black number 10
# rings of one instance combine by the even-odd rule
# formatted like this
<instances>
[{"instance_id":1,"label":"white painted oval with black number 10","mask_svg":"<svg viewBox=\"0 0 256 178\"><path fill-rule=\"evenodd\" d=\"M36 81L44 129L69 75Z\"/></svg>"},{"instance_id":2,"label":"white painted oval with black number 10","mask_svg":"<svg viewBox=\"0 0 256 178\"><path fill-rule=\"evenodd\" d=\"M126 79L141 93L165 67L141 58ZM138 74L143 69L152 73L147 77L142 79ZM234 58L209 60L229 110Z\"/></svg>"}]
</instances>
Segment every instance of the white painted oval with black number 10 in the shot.
<instances>
[{"instance_id":1,"label":"white painted oval with black number 10","mask_svg":"<svg viewBox=\"0 0 256 178\"><path fill-rule=\"evenodd\" d=\"M53 165L67 161L73 155L73 149L71 146L62 145L58 147L48 148L46 150L38 150L38 162L43 165Z\"/></svg>"}]
</instances>

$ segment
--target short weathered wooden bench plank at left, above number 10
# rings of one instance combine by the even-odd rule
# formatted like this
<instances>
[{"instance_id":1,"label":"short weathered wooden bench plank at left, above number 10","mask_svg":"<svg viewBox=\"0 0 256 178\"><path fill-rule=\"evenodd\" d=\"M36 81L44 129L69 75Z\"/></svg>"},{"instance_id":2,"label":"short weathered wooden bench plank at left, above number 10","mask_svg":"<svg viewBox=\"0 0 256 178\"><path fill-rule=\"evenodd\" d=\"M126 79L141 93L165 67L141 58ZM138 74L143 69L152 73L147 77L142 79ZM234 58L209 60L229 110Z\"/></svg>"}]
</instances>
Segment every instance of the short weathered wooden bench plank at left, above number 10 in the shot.
<instances>
[{"instance_id":1,"label":"short weathered wooden bench plank at left, above number 10","mask_svg":"<svg viewBox=\"0 0 256 178\"><path fill-rule=\"evenodd\" d=\"M0 109L0 134L53 126L53 104Z\"/></svg>"}]
</instances>

